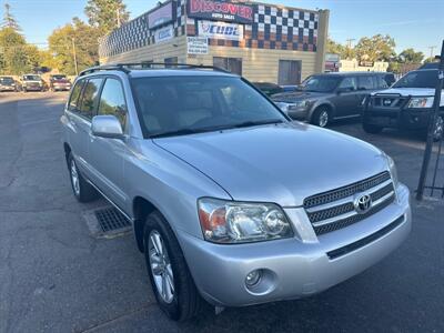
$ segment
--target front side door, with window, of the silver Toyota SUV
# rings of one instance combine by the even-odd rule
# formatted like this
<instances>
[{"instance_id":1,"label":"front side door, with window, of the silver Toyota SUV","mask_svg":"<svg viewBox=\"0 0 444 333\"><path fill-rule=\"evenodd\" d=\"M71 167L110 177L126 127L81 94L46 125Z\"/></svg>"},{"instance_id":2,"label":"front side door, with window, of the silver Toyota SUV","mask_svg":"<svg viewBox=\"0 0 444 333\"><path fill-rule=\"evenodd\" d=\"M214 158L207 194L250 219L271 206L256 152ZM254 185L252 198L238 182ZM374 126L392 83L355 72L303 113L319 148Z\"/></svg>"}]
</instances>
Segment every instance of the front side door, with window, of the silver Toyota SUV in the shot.
<instances>
[{"instance_id":1,"label":"front side door, with window, of the silver Toyota SUV","mask_svg":"<svg viewBox=\"0 0 444 333\"><path fill-rule=\"evenodd\" d=\"M97 114L117 117L123 132L127 133L127 110L122 83L118 78L108 77L102 88ZM94 173L93 182L121 209L128 204L123 179L123 157L127 151L124 139L99 138L90 132L89 152Z\"/></svg>"}]
</instances>

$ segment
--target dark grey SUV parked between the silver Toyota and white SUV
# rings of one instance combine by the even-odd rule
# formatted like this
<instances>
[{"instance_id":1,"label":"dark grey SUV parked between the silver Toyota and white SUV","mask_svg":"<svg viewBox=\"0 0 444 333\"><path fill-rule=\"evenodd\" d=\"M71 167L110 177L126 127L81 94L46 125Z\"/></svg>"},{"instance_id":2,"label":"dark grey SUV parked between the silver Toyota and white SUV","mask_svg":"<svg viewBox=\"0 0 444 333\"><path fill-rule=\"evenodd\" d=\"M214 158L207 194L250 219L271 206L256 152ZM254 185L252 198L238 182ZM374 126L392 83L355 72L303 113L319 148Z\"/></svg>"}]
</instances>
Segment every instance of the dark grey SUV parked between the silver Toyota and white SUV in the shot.
<instances>
[{"instance_id":1,"label":"dark grey SUV parked between the silver Toyota and white SUV","mask_svg":"<svg viewBox=\"0 0 444 333\"><path fill-rule=\"evenodd\" d=\"M332 120L360 117L364 98L389 84L377 72L323 73L309 77L297 91L273 95L273 101L294 120L326 127Z\"/></svg>"}]
</instances>

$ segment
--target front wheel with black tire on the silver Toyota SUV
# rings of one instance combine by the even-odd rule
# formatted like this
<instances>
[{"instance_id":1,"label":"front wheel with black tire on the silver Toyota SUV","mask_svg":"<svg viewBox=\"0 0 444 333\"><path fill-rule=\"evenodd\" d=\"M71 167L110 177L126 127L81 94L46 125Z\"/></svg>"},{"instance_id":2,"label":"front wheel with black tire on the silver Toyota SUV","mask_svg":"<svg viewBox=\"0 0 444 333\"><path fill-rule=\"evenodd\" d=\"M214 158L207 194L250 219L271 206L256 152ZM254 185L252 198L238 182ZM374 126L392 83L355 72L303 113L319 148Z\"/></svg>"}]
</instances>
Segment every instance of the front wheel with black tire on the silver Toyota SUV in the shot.
<instances>
[{"instance_id":1,"label":"front wheel with black tire on the silver Toyota SUV","mask_svg":"<svg viewBox=\"0 0 444 333\"><path fill-rule=\"evenodd\" d=\"M161 310L174 321L185 321L196 315L201 296L178 240L159 212L147 218L143 246L151 286Z\"/></svg>"}]
</instances>

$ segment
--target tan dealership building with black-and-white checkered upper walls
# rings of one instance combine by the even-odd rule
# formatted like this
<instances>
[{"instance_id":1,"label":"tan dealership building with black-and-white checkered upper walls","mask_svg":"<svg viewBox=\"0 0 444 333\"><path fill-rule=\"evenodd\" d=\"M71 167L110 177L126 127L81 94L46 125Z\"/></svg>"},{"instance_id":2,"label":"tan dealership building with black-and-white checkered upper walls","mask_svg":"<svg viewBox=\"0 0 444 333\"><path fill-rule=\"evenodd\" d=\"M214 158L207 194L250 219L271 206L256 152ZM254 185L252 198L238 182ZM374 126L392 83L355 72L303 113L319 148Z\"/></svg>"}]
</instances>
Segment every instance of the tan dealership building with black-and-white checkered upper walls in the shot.
<instances>
[{"instance_id":1,"label":"tan dealership building with black-and-white checkered upper walls","mask_svg":"<svg viewBox=\"0 0 444 333\"><path fill-rule=\"evenodd\" d=\"M251 81L296 84L324 71L327 29L329 10L167 1L104 37L100 62L216 65Z\"/></svg>"}]
</instances>

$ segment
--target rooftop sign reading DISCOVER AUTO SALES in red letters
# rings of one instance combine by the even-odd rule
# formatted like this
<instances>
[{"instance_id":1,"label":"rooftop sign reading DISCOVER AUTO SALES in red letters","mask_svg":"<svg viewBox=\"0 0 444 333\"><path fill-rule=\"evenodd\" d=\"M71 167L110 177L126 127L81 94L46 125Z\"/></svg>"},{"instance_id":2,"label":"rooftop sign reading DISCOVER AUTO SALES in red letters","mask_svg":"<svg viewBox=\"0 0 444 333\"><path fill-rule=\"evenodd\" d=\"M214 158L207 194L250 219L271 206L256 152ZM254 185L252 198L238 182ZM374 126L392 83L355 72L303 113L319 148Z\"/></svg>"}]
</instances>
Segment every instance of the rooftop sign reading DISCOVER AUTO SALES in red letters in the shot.
<instances>
[{"instance_id":1,"label":"rooftop sign reading DISCOVER AUTO SALES in red letters","mask_svg":"<svg viewBox=\"0 0 444 333\"><path fill-rule=\"evenodd\" d=\"M232 3L229 1L189 0L188 17L238 23L252 23L253 8L248 4Z\"/></svg>"}]
</instances>

